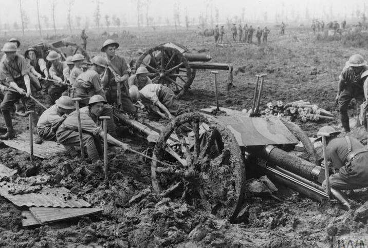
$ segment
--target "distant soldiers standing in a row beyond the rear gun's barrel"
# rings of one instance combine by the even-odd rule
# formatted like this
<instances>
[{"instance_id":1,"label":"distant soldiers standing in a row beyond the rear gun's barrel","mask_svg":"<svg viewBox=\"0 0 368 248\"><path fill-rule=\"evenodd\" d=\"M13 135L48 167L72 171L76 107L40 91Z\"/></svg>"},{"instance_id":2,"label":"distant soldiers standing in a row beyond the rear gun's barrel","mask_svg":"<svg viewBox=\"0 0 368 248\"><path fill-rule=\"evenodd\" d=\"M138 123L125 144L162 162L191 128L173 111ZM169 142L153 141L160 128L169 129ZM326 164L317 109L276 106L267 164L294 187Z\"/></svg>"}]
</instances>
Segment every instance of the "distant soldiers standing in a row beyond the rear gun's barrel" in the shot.
<instances>
[{"instance_id":1,"label":"distant soldiers standing in a row beyond the rear gun's barrel","mask_svg":"<svg viewBox=\"0 0 368 248\"><path fill-rule=\"evenodd\" d=\"M261 29L260 27L257 27L257 29L254 29L252 25L248 27L248 24L244 25L242 27L241 24L236 27L235 24L233 24L231 28L232 33L232 40L233 41L240 41L240 42L247 42L247 43L253 43L253 33L255 32L255 36L257 37L257 44L261 44L261 39L263 43L267 43L267 37L270 33L270 30L267 27L264 27ZM221 29L218 29L218 25L216 25L214 29L214 38L216 43L222 43L223 37L225 34L225 28L224 26L221 26Z\"/></svg>"}]
</instances>

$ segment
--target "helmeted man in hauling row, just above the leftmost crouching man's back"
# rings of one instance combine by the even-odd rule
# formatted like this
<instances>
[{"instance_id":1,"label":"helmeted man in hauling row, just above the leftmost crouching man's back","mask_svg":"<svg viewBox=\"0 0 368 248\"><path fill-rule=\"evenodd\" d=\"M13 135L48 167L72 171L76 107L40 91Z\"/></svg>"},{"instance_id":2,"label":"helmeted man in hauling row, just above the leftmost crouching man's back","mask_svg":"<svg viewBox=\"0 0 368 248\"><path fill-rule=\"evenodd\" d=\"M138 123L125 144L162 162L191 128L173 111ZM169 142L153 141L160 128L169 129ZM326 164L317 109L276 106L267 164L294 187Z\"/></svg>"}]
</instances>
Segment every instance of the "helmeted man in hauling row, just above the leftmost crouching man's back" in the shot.
<instances>
[{"instance_id":1,"label":"helmeted man in hauling row, just above the leftmost crouching man's back","mask_svg":"<svg viewBox=\"0 0 368 248\"><path fill-rule=\"evenodd\" d=\"M50 51L47 56L46 60L51 62L51 67L48 70L49 76L51 79L58 81L57 83L52 83L50 87L47 90L48 95L50 98L50 102L48 104L54 104L55 101L60 98L62 93L67 89L67 86L63 84L63 81L67 80L67 77L69 73L67 71L70 71L67 63L70 62L61 62L60 60L61 55L57 53L56 51ZM64 75L66 73L66 77Z\"/></svg>"}]
</instances>

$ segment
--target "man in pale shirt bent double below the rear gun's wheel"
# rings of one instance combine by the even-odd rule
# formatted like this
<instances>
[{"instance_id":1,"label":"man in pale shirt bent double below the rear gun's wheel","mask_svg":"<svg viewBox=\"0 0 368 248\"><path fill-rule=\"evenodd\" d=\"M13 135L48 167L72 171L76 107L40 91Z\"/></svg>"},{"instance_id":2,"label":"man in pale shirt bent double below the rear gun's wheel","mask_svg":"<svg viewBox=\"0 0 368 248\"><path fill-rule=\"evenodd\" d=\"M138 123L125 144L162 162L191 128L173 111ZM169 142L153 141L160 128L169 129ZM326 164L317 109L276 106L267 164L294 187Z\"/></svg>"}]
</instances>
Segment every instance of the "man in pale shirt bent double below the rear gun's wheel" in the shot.
<instances>
[{"instance_id":1,"label":"man in pale shirt bent double below the rear gun's wheel","mask_svg":"<svg viewBox=\"0 0 368 248\"><path fill-rule=\"evenodd\" d=\"M144 106L147 106L149 110L157 113L163 119L172 119L182 110L175 93L162 84L148 84L141 90L133 85L129 92L133 101L142 100Z\"/></svg>"}]
</instances>

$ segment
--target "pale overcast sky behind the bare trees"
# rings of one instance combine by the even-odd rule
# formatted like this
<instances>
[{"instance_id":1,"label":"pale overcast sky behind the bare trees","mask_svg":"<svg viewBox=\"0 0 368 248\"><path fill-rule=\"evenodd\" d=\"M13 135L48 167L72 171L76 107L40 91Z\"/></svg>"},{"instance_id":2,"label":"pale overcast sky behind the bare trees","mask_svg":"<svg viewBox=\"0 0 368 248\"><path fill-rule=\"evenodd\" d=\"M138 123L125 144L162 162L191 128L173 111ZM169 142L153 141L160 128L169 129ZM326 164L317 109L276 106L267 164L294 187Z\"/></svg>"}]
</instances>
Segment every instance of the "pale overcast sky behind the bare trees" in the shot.
<instances>
[{"instance_id":1,"label":"pale overcast sky behind the bare trees","mask_svg":"<svg viewBox=\"0 0 368 248\"><path fill-rule=\"evenodd\" d=\"M29 17L29 28L34 28L37 22L36 15L36 1L37 0L22 0L23 9ZM146 2L148 0L140 0ZM56 0L56 22L58 27L66 25L66 13L68 9L69 0ZM86 18L89 18L89 26L94 26L94 12L96 10L96 0L76 0L72 1L73 6L71 10L72 16L81 17L81 25L84 26ZM120 17L122 22L126 22L128 25L136 25L137 23L137 0L100 0L101 8L101 24L105 25L104 16L106 14ZM213 6L212 13L215 16L215 8L219 11L219 22L225 23L226 18L229 17L234 20L234 16L241 17L242 9L244 8L245 19L249 20L263 20L264 13L268 14L268 21L274 21L275 15L288 16L289 19L297 16L298 13L302 18L306 16L306 9L308 9L309 16L315 18L321 18L324 13L334 15L334 18L341 21L345 16L351 18L353 14L356 16L357 10L362 13L365 9L364 2L367 2L366 8L368 9L368 1L365 0L262 0L262 1L249 1L249 0L151 0L148 15L153 17L154 22L161 20L161 23L165 24L166 20L173 20L173 8L175 3L179 3L180 20L184 25L185 12L187 11L190 20L194 20L194 24L198 24L198 16L203 13L208 15L211 13L211 7ZM51 23L51 3L52 0L39 0L41 16L46 16L48 22ZM3 28L5 23L13 25L14 22L21 23L19 0L0 0L0 27ZM332 6L332 9L331 9ZM144 8L144 7L143 7ZM332 11L331 11L332 10ZM367 13L368 10L366 10ZM142 13L145 10L142 9ZM340 17L340 18L339 18ZM160 19L159 19L160 18ZM284 17L282 17L284 18ZM46 24L42 19L42 25ZM291 20L290 20L291 21ZM329 21L329 20L325 20ZM145 24L145 22L143 22ZM192 21L193 23L193 21ZM73 20L75 24L75 20Z\"/></svg>"}]
</instances>

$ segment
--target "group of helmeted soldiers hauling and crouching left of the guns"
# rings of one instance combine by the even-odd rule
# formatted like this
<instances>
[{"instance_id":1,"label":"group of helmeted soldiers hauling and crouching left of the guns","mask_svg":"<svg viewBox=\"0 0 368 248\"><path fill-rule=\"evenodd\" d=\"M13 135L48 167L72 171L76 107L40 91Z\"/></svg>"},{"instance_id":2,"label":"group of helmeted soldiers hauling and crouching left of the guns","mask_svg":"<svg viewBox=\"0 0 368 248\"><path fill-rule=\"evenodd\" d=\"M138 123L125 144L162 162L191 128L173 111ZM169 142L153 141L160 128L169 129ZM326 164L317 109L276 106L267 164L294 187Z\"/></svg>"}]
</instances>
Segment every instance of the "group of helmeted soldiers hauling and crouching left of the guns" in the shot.
<instances>
[{"instance_id":1,"label":"group of helmeted soldiers hauling and crouching left of the guns","mask_svg":"<svg viewBox=\"0 0 368 248\"><path fill-rule=\"evenodd\" d=\"M36 143L58 141L75 157L75 147L81 140L80 126L88 158L95 162L102 158L100 117L107 117L108 142L125 150L128 146L116 139L114 111L136 118L141 108L171 119L182 108L169 87L152 83L145 67L133 73L126 60L116 54L119 44L113 40L103 43L101 52L105 56L94 56L87 64L89 68L79 53L62 61L61 54L50 50L47 65L34 48L28 48L23 56L18 52L19 46L20 42L12 39L1 50L5 54L0 62L0 108L6 126L0 130L5 132L0 136L2 140L15 138L10 111L14 105L23 104L26 113L33 116ZM35 103L43 104L35 97L43 98L48 105L40 117L34 111ZM76 101L80 109L76 109Z\"/></svg>"}]
</instances>

